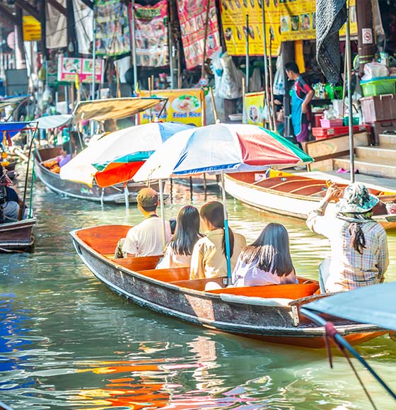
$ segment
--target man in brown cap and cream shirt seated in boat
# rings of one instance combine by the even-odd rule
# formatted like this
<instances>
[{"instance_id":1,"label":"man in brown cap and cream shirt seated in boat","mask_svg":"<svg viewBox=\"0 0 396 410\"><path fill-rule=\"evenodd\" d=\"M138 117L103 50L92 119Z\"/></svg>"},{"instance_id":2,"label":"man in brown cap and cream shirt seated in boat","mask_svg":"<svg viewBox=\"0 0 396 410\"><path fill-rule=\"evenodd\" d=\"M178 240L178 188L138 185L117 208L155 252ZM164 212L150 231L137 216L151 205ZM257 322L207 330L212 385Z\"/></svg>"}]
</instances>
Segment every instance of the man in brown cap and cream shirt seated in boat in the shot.
<instances>
[{"instance_id":1,"label":"man in brown cap and cream shirt seated in boat","mask_svg":"<svg viewBox=\"0 0 396 410\"><path fill-rule=\"evenodd\" d=\"M153 188L143 188L137 193L136 201L137 209L144 215L144 221L129 229L126 238L120 239L115 258L163 254L163 224L157 215L158 193ZM170 239L170 224L165 222L165 243Z\"/></svg>"}]
</instances>

